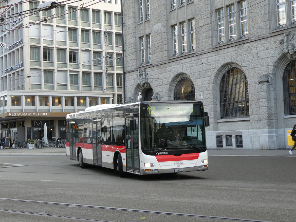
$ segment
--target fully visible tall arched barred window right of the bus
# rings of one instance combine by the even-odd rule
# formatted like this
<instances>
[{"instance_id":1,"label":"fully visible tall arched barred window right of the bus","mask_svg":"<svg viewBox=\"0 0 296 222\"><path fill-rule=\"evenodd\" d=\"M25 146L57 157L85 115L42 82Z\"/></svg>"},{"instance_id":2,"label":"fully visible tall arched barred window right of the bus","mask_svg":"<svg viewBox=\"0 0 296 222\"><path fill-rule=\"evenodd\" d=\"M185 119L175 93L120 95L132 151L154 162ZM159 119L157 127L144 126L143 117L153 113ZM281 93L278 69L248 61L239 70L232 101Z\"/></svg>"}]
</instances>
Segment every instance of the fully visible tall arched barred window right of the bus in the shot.
<instances>
[{"instance_id":1,"label":"fully visible tall arched barred window right of the bus","mask_svg":"<svg viewBox=\"0 0 296 222\"><path fill-rule=\"evenodd\" d=\"M249 116L248 81L242 70L230 68L220 82L221 118Z\"/></svg>"}]
</instances>

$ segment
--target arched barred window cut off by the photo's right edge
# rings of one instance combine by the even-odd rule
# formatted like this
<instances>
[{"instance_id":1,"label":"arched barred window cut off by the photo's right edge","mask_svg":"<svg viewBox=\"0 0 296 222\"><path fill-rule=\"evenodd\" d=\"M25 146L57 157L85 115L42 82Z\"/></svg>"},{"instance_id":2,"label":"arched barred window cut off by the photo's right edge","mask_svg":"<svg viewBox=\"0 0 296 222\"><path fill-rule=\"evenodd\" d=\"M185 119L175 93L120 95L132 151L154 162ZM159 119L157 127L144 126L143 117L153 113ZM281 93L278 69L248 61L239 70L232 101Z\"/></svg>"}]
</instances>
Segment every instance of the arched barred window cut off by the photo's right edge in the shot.
<instances>
[{"instance_id":1,"label":"arched barred window cut off by the photo's right edge","mask_svg":"<svg viewBox=\"0 0 296 222\"><path fill-rule=\"evenodd\" d=\"M296 61L289 62L283 75L284 109L286 115L296 114Z\"/></svg>"}]
</instances>

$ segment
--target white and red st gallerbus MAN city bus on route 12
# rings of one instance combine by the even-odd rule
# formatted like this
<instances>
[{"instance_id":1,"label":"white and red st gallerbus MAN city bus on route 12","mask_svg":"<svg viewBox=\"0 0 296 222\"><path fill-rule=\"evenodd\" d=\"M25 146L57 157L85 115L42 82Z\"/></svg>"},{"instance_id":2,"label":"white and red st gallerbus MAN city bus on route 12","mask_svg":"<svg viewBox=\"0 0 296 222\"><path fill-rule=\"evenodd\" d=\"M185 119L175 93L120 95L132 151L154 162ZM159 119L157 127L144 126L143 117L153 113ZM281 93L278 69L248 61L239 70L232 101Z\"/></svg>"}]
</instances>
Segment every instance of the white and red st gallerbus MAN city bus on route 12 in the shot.
<instances>
[{"instance_id":1,"label":"white and red st gallerbus MAN city bus on route 12","mask_svg":"<svg viewBox=\"0 0 296 222\"><path fill-rule=\"evenodd\" d=\"M66 155L81 168L102 166L120 177L207 170L209 125L200 101L87 107L66 117Z\"/></svg>"}]
</instances>

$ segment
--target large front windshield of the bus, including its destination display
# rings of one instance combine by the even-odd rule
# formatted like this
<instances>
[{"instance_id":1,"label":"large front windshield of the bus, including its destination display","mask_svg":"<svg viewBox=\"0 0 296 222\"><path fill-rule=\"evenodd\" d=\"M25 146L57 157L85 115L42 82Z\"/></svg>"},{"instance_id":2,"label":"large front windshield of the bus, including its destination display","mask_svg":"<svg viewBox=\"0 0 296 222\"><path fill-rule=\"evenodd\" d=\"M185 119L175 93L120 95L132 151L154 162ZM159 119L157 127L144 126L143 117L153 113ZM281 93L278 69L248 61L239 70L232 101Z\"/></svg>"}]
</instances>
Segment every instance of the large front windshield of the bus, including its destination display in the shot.
<instances>
[{"instance_id":1,"label":"large front windshield of the bus, including its destination display","mask_svg":"<svg viewBox=\"0 0 296 222\"><path fill-rule=\"evenodd\" d=\"M206 151L201 103L146 103L140 110L141 149L145 154Z\"/></svg>"}]
</instances>

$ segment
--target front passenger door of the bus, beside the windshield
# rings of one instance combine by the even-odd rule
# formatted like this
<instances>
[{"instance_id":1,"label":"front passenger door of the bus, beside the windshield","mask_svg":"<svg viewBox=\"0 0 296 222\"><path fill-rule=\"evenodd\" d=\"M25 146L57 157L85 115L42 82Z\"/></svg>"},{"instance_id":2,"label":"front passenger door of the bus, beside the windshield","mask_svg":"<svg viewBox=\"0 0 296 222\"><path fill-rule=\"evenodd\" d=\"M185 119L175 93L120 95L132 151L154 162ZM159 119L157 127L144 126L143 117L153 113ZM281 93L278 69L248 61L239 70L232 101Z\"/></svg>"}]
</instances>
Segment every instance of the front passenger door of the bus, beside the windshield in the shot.
<instances>
[{"instance_id":1,"label":"front passenger door of the bus, beside the windshield","mask_svg":"<svg viewBox=\"0 0 296 222\"><path fill-rule=\"evenodd\" d=\"M139 163L139 118L136 119L136 130L130 129L131 118L126 118L126 168L128 172L140 173Z\"/></svg>"}]
</instances>

